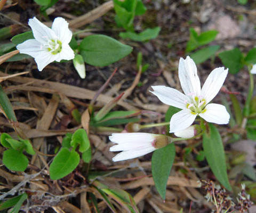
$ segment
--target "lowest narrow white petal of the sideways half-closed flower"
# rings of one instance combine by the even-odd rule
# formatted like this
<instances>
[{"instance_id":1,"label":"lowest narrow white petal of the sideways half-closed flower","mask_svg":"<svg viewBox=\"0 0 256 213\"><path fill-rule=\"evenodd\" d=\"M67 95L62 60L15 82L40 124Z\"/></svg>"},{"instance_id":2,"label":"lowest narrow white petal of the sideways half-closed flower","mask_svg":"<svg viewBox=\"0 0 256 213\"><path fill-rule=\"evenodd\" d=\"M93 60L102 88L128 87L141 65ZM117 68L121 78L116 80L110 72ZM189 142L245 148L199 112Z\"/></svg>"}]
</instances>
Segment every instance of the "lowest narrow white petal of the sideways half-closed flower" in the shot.
<instances>
[{"instance_id":1,"label":"lowest narrow white petal of the sideways half-closed flower","mask_svg":"<svg viewBox=\"0 0 256 213\"><path fill-rule=\"evenodd\" d=\"M120 161L120 160L127 160L132 158L137 158L142 155L148 154L150 152L155 151L156 149L154 147L147 148L147 149L138 149L138 150L129 150L129 151L123 151L119 154L117 154L112 160L113 161Z\"/></svg>"}]
</instances>

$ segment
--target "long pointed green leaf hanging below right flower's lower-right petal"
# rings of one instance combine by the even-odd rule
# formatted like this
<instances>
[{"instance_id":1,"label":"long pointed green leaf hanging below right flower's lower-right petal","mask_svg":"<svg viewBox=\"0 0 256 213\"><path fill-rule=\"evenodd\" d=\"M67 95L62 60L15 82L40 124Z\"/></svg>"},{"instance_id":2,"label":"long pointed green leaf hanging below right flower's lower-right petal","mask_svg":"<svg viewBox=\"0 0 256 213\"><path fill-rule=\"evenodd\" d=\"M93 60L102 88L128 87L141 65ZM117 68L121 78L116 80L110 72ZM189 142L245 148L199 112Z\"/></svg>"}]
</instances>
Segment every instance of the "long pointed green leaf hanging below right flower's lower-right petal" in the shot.
<instances>
[{"instance_id":1,"label":"long pointed green leaf hanging below right flower's lower-right petal","mask_svg":"<svg viewBox=\"0 0 256 213\"><path fill-rule=\"evenodd\" d=\"M203 149L209 166L218 179L218 181L231 191L232 188L228 181L227 166L225 159L225 152L221 136L218 129L211 123L209 125L209 132L203 134Z\"/></svg>"}]
</instances>

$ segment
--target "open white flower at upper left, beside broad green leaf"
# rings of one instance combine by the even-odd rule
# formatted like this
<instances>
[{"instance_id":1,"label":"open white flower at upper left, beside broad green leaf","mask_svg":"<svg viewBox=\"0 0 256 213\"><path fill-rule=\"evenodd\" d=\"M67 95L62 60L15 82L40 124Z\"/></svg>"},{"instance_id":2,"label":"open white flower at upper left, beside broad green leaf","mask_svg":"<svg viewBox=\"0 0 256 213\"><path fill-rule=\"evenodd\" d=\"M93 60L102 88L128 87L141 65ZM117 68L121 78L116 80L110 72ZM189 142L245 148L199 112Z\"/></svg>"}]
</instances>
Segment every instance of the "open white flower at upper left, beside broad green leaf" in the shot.
<instances>
[{"instance_id":1,"label":"open white flower at upper left, beside broad green leaf","mask_svg":"<svg viewBox=\"0 0 256 213\"><path fill-rule=\"evenodd\" d=\"M63 18L55 18L52 29L38 21L36 17L29 19L28 25L33 31L35 39L28 39L17 45L20 53L25 53L37 63L39 71L53 61L74 59L74 51L68 45L72 32L68 29L68 22Z\"/></svg>"}]
</instances>

